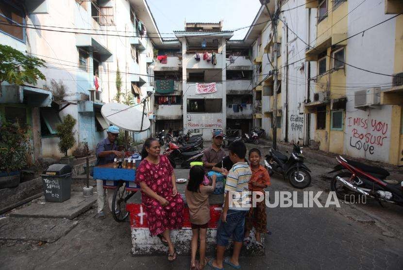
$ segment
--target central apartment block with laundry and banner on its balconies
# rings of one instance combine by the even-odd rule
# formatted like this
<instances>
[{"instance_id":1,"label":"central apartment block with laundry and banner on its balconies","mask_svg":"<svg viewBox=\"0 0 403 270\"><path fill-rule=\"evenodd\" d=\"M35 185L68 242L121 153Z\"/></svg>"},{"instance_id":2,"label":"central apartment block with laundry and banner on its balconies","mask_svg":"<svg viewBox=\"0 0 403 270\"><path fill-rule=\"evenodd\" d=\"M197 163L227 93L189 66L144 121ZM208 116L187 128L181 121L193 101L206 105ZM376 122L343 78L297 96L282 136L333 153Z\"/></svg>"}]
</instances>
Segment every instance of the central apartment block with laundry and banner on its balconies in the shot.
<instances>
[{"instance_id":1,"label":"central apartment block with laundry and banner on its balconies","mask_svg":"<svg viewBox=\"0 0 403 270\"><path fill-rule=\"evenodd\" d=\"M249 46L231 40L219 23L185 22L176 40L157 46L154 66L156 130L203 134L252 128Z\"/></svg>"}]
</instances>

